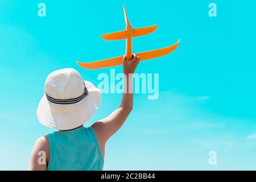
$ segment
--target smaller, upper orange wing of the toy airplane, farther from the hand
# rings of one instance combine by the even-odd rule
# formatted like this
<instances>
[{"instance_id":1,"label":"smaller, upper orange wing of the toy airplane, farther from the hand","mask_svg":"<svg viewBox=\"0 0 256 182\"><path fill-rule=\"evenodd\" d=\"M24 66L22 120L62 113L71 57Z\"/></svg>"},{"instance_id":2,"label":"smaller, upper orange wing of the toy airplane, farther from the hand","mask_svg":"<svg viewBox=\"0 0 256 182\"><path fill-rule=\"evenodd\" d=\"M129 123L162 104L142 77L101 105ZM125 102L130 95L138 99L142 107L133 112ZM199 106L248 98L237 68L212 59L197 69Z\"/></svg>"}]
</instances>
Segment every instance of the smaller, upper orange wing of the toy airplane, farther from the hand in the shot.
<instances>
[{"instance_id":1,"label":"smaller, upper orange wing of the toy airplane, farther from the hand","mask_svg":"<svg viewBox=\"0 0 256 182\"><path fill-rule=\"evenodd\" d=\"M151 32L154 32L158 26L150 26L150 27L143 27L143 28L134 28L133 29L133 38L136 36L142 36L142 35L147 35L150 34ZM127 31L119 31L119 32L114 32L110 34L104 34L102 35L102 38L105 40L121 40L121 39L126 39L127 38Z\"/></svg>"}]
</instances>

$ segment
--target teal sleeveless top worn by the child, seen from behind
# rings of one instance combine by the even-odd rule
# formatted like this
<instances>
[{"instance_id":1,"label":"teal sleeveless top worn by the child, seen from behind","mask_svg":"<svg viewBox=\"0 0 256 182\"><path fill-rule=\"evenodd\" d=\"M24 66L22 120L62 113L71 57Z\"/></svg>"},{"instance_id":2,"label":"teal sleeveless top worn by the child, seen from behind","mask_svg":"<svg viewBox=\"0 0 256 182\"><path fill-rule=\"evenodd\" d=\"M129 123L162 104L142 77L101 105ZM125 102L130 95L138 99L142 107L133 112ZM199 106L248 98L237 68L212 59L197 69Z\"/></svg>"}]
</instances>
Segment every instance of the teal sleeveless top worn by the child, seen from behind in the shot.
<instances>
[{"instance_id":1,"label":"teal sleeveless top worn by the child, seen from behind","mask_svg":"<svg viewBox=\"0 0 256 182\"><path fill-rule=\"evenodd\" d=\"M103 169L100 146L92 127L48 134L48 171L100 171Z\"/></svg>"}]
</instances>

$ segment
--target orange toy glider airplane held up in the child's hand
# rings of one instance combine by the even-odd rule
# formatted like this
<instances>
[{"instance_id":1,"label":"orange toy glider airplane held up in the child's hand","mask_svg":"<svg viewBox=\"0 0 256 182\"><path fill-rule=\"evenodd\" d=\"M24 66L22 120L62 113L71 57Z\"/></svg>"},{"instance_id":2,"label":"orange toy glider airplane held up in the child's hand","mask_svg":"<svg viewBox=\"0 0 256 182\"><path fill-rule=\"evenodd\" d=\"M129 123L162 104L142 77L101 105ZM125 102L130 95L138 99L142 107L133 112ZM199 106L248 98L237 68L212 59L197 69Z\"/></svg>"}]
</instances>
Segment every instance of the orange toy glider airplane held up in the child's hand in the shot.
<instances>
[{"instance_id":1,"label":"orange toy glider airplane held up in the child's hand","mask_svg":"<svg viewBox=\"0 0 256 182\"><path fill-rule=\"evenodd\" d=\"M105 35L102 35L102 38L105 40L126 39L126 59L127 59L127 61L129 61L133 57L132 39L136 36L150 34L151 32L154 32L158 26L155 25L155 26L151 26L151 27L133 29L131 27L131 24L129 23L128 18L127 18L125 6L123 6L123 11L125 12L126 30L114 32L114 33L110 33L110 34L105 34ZM179 43L180 43L180 40L170 47L155 49L153 51L140 52L140 53L137 53L137 55L140 57L141 61L154 59L156 57L164 56L164 55L167 55L168 53L171 53L172 51L174 51L177 48ZM113 57L113 58L105 59L105 60L101 60L101 61L95 61L92 63L80 63L77 61L77 64L79 64L80 67L86 68L86 69L108 68L108 67L115 67L117 65L121 65L122 58L123 58L123 56L119 56L119 57Z\"/></svg>"}]
</instances>

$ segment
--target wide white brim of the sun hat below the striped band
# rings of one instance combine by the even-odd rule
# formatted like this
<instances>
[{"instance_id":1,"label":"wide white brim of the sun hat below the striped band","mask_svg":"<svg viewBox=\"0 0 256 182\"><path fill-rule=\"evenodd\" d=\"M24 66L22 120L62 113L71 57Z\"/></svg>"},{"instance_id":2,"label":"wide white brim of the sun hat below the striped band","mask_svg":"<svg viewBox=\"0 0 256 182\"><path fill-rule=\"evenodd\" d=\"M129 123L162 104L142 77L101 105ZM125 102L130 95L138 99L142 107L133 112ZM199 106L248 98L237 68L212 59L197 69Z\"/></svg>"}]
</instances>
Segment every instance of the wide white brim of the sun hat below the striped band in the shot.
<instances>
[{"instance_id":1,"label":"wide white brim of the sun hat below the striped band","mask_svg":"<svg viewBox=\"0 0 256 182\"><path fill-rule=\"evenodd\" d=\"M76 104L54 104L44 94L36 111L39 122L52 129L71 130L88 121L100 106L101 92L91 82L84 83L88 95Z\"/></svg>"}]
</instances>

